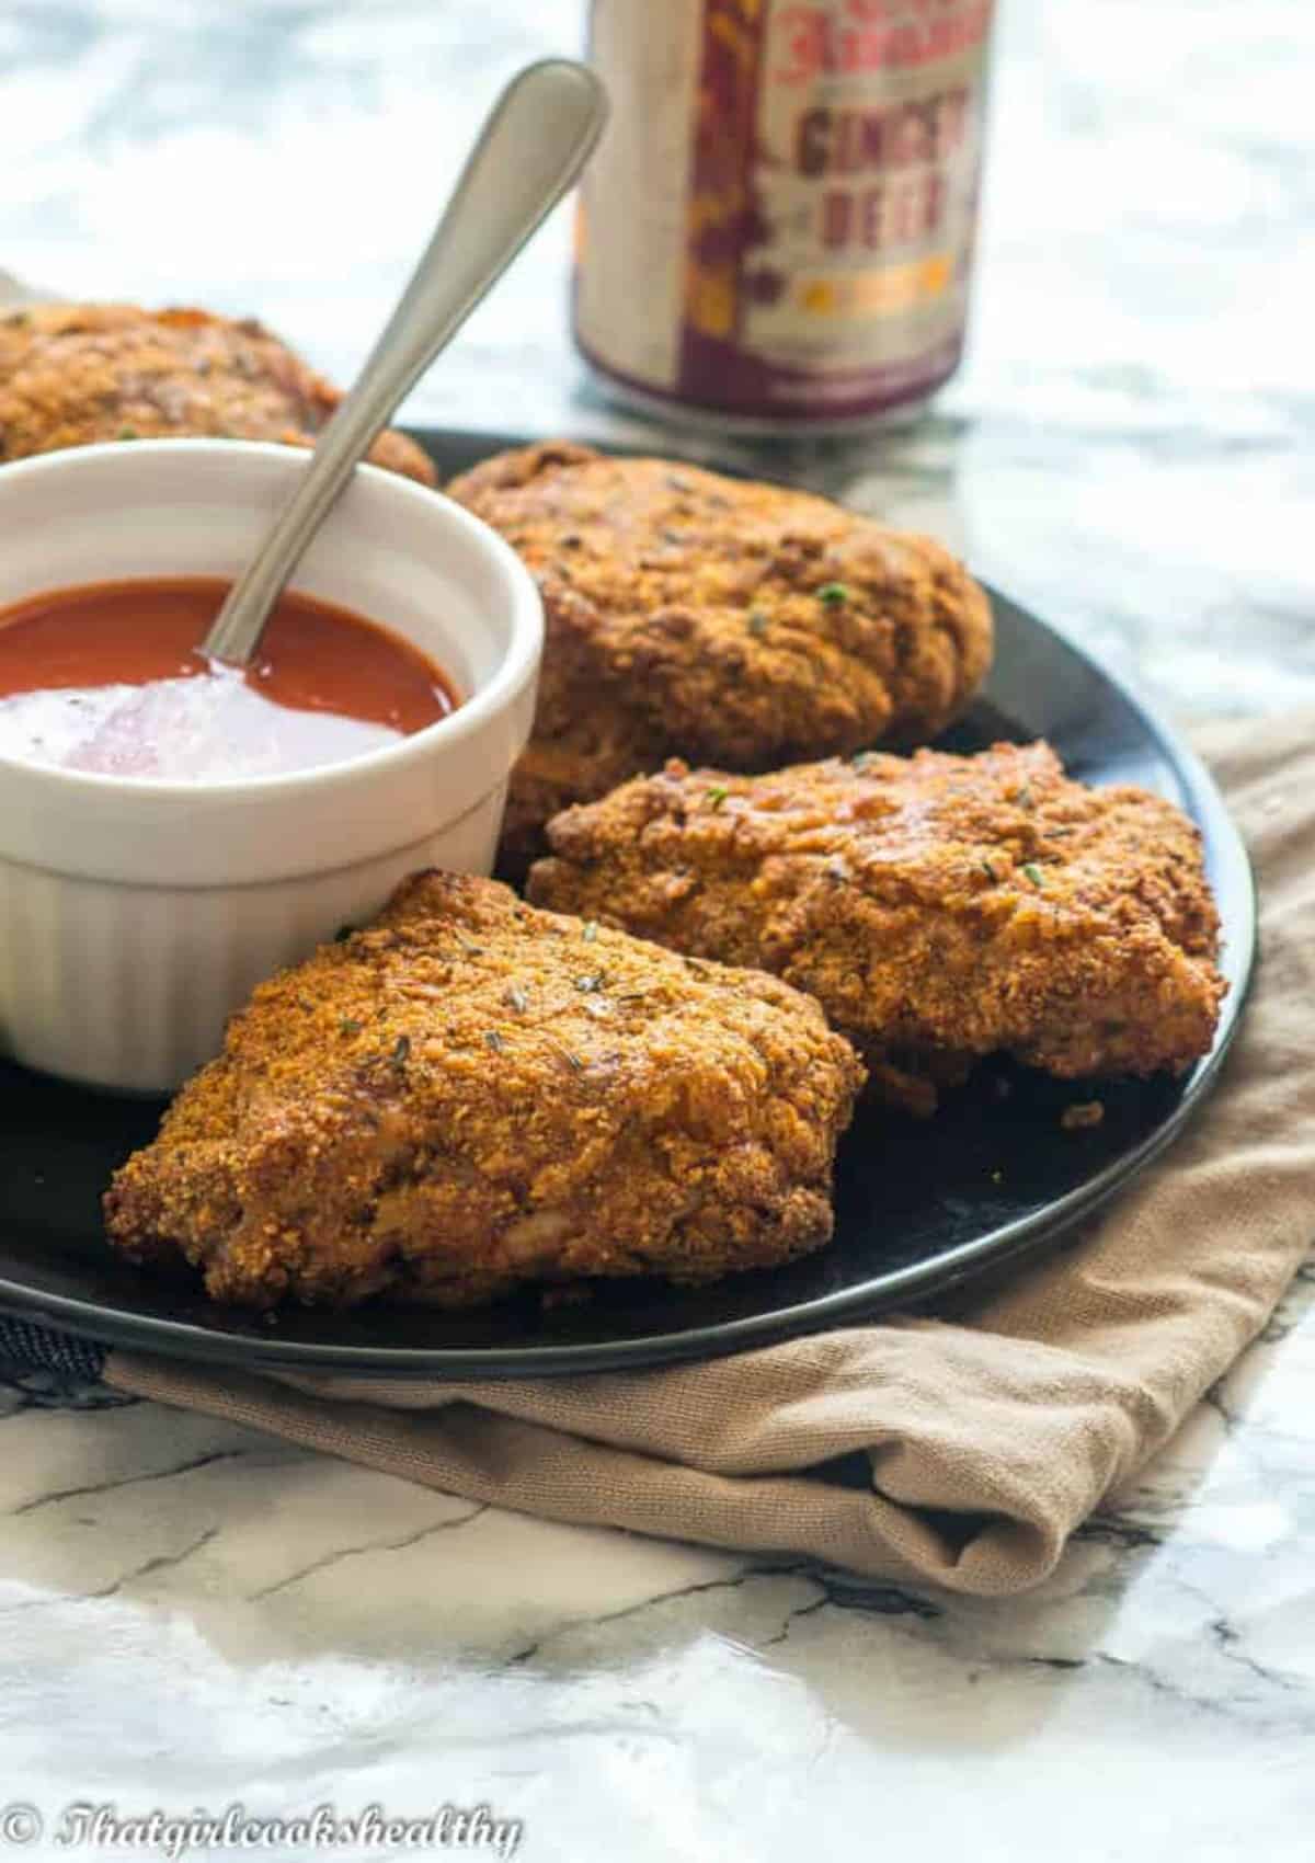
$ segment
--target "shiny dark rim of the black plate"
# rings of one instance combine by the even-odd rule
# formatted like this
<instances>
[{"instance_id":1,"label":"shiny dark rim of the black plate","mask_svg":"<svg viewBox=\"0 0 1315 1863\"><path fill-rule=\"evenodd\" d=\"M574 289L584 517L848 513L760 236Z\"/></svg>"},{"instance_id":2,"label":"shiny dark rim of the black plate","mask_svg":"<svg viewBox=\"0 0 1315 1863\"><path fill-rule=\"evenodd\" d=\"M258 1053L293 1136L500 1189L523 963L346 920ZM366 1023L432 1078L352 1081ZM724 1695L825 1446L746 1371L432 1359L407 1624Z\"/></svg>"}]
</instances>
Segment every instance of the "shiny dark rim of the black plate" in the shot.
<instances>
[{"instance_id":1,"label":"shiny dark rim of the black plate","mask_svg":"<svg viewBox=\"0 0 1315 1863\"><path fill-rule=\"evenodd\" d=\"M488 451L495 451L499 445L497 436L449 432L443 438L456 445L469 442L471 449L477 442ZM1075 1224L1097 1211L1159 1157L1177 1138L1211 1092L1237 1034L1252 982L1255 961L1255 885L1246 848L1227 814L1224 797L1201 760L1183 743L1173 727L1125 678L1110 673L1095 654L1090 654L1071 639L1064 628L1039 620L1039 617L1019 607L1017 602L1010 602L1010 598L989 585L987 591L993 600L1008 602L1032 628L1056 637L1101 682L1114 687L1123 704L1140 719L1147 738L1155 741L1164 762L1179 779L1188 812L1207 838L1216 872L1226 881L1220 885L1220 892L1235 902L1233 918L1227 924L1233 987L1220 1015L1214 1047L1198 1062L1177 1105L1140 1144L1121 1151L1101 1172L1073 1190L1052 1198L1024 1217L1002 1222L972 1241L948 1246L941 1254L922 1261L874 1274L866 1282L797 1300L790 1306L767 1306L760 1313L715 1321L706 1326L685 1326L674 1332L641 1334L615 1341L453 1349L332 1345L305 1339L279 1339L278 1336L259 1338L251 1334L216 1332L190 1321L158 1319L136 1313L130 1308L80 1300L71 1295L34 1291L24 1282L4 1274L0 1274L0 1308L17 1312L24 1319L48 1321L67 1332L104 1343L210 1364L264 1366L285 1371L339 1371L365 1377L564 1377L579 1371L617 1371L687 1358L710 1358L745 1345L764 1345L771 1339L801 1332L820 1332L827 1326L872 1317L877 1312L888 1312L896 1306L909 1306L987 1269L1000 1267L1041 1244L1060 1241Z\"/></svg>"}]
</instances>

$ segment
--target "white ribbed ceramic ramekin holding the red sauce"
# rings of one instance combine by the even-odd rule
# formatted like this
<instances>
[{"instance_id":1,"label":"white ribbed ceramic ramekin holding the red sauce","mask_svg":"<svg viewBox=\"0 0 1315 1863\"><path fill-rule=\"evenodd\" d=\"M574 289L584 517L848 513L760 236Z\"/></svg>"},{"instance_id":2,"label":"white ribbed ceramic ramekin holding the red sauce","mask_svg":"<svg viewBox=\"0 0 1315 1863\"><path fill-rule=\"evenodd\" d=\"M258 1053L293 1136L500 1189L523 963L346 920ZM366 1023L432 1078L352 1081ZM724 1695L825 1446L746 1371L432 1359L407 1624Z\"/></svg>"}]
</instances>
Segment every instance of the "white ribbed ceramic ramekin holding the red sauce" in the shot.
<instances>
[{"instance_id":1,"label":"white ribbed ceramic ramekin holding the red sauce","mask_svg":"<svg viewBox=\"0 0 1315 1863\"><path fill-rule=\"evenodd\" d=\"M233 576L305 471L294 447L160 440L0 468L0 607L129 576ZM127 1092L179 1084L251 986L406 874L486 874L535 712L544 617L507 544L358 468L294 587L425 648L462 699L348 764L175 784L0 758L0 1045Z\"/></svg>"}]
</instances>

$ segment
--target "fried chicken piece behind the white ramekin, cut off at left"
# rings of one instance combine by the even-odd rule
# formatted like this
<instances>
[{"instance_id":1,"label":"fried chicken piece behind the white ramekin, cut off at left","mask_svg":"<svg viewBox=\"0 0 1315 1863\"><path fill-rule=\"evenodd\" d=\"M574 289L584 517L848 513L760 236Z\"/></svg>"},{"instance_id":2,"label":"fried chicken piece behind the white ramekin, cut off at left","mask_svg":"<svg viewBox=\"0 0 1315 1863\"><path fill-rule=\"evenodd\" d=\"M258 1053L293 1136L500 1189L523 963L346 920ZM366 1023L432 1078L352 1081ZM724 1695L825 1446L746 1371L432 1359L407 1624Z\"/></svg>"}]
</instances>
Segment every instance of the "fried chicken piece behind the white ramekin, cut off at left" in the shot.
<instances>
[{"instance_id":1,"label":"fried chicken piece behind the white ramekin, cut off at left","mask_svg":"<svg viewBox=\"0 0 1315 1863\"><path fill-rule=\"evenodd\" d=\"M41 304L0 317L0 462L184 434L309 447L341 399L253 319L132 304ZM436 483L404 434L380 434L369 456Z\"/></svg>"}]
</instances>

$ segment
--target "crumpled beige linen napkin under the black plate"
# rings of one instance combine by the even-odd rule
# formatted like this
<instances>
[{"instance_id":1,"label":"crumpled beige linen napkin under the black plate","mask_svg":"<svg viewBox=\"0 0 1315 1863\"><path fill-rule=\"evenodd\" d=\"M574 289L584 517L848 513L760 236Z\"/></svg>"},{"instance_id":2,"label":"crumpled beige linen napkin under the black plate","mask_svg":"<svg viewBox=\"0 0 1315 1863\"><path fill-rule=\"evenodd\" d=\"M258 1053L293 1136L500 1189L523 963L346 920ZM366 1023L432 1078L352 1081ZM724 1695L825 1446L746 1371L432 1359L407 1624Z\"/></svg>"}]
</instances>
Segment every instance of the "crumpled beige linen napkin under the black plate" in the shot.
<instances>
[{"instance_id":1,"label":"crumpled beige linen napkin under the black plate","mask_svg":"<svg viewBox=\"0 0 1315 1863\"><path fill-rule=\"evenodd\" d=\"M1220 1088L1067 1246L941 1317L535 1382L244 1377L114 1353L125 1392L503 1507L1004 1595L1186 1416L1315 1233L1315 717L1203 745L1263 961ZM836 1477L864 1461L870 1479Z\"/></svg>"}]
</instances>

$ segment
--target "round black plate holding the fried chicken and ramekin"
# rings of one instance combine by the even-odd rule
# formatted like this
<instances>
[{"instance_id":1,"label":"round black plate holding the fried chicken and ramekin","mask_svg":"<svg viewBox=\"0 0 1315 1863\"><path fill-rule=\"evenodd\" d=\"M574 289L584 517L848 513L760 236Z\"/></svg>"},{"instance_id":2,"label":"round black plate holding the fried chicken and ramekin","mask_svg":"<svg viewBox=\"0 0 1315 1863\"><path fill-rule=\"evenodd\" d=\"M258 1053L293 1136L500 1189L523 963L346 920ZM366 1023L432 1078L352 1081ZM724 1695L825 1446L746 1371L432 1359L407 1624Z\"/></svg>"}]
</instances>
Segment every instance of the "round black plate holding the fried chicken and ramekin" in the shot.
<instances>
[{"instance_id":1,"label":"round black plate holding the fried chicken and ramekin","mask_svg":"<svg viewBox=\"0 0 1315 1863\"><path fill-rule=\"evenodd\" d=\"M445 473L503 443L421 438ZM695 1358L855 1321L1062 1235L1170 1144L1209 1090L1246 995L1255 902L1218 790L1175 732L1045 622L993 600L995 671L944 741L1049 738L1073 775L1159 790L1201 827L1231 989L1214 1051L1185 1079L1105 1086L1105 1122L1073 1133L1060 1112L1090 1094L1006 1066L983 1067L931 1122L864 1110L840 1149L836 1237L786 1269L708 1289L613 1284L549 1308L525 1295L466 1315L373 1306L263 1323L205 1300L190 1278L121 1263L102 1241L101 1190L151 1138L158 1105L0 1066L0 1304L99 1339L250 1367L518 1377Z\"/></svg>"}]
</instances>

